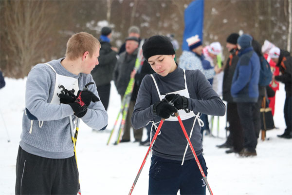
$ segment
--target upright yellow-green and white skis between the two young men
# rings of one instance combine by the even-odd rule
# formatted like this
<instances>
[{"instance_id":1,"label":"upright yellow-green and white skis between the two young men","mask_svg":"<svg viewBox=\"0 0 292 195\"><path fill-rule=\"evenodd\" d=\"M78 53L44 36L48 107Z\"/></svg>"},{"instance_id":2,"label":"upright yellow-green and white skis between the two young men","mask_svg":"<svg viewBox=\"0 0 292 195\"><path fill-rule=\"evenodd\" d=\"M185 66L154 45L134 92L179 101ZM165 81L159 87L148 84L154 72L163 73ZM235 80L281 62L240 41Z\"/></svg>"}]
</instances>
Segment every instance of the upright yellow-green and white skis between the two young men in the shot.
<instances>
[{"instance_id":1,"label":"upright yellow-green and white skis between the two young men","mask_svg":"<svg viewBox=\"0 0 292 195\"><path fill-rule=\"evenodd\" d=\"M145 41L145 39L141 40L140 46L139 46L139 49L138 49L138 54L137 54L137 58L136 58L136 61L135 61L135 66L134 66L134 70L136 72L139 72L139 70L141 69L141 66L143 65L143 62L144 62L144 57L143 57L143 53L142 53L142 45L144 44L144 41ZM124 131L125 122L126 122L126 118L127 118L127 115L128 115L128 108L129 108L129 103L131 101L134 84L135 84L135 78L130 78L130 81L128 83L125 95L123 96L123 99L122 99L122 104L121 104L121 107L120 107L120 111L118 113L118 116L115 119L113 128L112 128L112 130L110 132L110 137L108 139L107 145L109 145L109 143L110 143L110 139L112 137L112 134L113 134L113 132L114 132L114 130L116 128L116 125L118 124L120 115L122 114L122 120L121 120L121 123L120 123L120 128L119 128L119 131L118 131L118 134L117 134L117 139L116 139L114 144L119 144L120 143L121 135L122 135L122 132Z\"/></svg>"}]
</instances>

